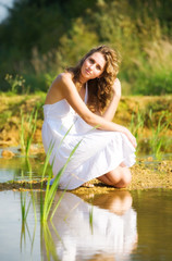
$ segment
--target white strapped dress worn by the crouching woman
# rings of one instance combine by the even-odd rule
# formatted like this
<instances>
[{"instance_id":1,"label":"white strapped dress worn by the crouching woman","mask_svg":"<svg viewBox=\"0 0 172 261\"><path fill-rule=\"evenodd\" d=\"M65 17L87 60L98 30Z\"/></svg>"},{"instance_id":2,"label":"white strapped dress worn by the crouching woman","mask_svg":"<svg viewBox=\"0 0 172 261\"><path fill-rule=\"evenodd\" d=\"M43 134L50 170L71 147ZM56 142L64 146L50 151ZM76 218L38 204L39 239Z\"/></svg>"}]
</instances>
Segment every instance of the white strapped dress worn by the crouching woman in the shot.
<instances>
[{"instance_id":1,"label":"white strapped dress worn by the crouching woman","mask_svg":"<svg viewBox=\"0 0 172 261\"><path fill-rule=\"evenodd\" d=\"M87 97L86 86L85 102ZM50 164L53 162L54 176L65 164L74 147L82 140L60 178L59 188L74 189L114 170L122 162L126 166L135 163L135 148L124 134L94 128L65 99L53 104L45 104L44 115L42 142L46 153L53 144Z\"/></svg>"}]
</instances>

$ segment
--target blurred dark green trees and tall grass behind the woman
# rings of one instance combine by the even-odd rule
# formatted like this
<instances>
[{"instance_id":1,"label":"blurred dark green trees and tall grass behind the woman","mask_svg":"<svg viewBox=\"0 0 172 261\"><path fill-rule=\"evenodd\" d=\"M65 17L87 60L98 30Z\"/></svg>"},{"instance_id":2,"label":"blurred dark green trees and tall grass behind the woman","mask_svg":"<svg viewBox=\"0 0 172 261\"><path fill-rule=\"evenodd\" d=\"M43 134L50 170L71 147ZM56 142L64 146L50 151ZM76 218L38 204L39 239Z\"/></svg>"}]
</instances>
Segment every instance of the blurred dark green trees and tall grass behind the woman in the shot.
<instances>
[{"instance_id":1,"label":"blurred dark green trees and tall grass behind the woman","mask_svg":"<svg viewBox=\"0 0 172 261\"><path fill-rule=\"evenodd\" d=\"M0 23L0 91L47 91L90 48L122 55L123 95L172 94L170 0L14 0Z\"/></svg>"}]
</instances>

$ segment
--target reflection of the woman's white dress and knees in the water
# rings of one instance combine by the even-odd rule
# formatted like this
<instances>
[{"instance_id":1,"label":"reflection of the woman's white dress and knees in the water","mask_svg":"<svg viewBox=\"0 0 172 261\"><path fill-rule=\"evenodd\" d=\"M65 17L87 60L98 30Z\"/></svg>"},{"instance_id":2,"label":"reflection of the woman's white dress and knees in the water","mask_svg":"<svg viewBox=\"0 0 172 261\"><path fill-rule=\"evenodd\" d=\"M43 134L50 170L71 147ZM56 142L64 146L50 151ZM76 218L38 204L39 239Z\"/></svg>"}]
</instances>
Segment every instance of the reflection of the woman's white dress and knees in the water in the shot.
<instances>
[{"instance_id":1,"label":"reflection of the woman's white dress and knees in the water","mask_svg":"<svg viewBox=\"0 0 172 261\"><path fill-rule=\"evenodd\" d=\"M57 192L58 201L60 192ZM85 198L66 192L52 223L44 225L44 260L125 260L137 241L128 191Z\"/></svg>"}]
</instances>

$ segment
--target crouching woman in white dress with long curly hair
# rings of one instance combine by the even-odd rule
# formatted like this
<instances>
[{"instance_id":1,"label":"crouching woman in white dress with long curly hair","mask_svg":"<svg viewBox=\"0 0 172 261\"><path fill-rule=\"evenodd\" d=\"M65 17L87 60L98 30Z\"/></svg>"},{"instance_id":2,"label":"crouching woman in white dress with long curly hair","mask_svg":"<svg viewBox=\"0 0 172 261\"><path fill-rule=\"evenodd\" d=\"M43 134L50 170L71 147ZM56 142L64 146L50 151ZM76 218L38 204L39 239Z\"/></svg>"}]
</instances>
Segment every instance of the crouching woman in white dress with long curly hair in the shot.
<instances>
[{"instance_id":1,"label":"crouching woman in white dress with long curly hair","mask_svg":"<svg viewBox=\"0 0 172 261\"><path fill-rule=\"evenodd\" d=\"M60 74L48 91L42 142L46 152L53 144L54 176L82 140L60 178L61 189L74 189L93 178L118 188L131 183L136 139L111 122L121 96L118 72L118 53L100 46Z\"/></svg>"}]
</instances>

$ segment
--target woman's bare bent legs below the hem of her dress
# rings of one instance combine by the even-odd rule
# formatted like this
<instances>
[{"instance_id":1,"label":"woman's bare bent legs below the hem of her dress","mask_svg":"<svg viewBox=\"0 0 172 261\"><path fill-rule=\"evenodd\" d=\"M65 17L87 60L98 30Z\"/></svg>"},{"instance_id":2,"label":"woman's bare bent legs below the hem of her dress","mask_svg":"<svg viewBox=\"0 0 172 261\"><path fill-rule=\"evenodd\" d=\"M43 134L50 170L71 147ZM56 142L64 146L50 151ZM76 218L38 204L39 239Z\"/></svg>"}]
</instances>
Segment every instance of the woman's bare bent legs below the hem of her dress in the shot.
<instances>
[{"instance_id":1,"label":"woman's bare bent legs below the hem of her dress","mask_svg":"<svg viewBox=\"0 0 172 261\"><path fill-rule=\"evenodd\" d=\"M98 177L98 179L107 185L124 188L131 183L132 174L130 169L122 163L113 171L110 171L107 174Z\"/></svg>"}]
</instances>

